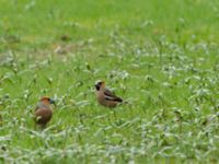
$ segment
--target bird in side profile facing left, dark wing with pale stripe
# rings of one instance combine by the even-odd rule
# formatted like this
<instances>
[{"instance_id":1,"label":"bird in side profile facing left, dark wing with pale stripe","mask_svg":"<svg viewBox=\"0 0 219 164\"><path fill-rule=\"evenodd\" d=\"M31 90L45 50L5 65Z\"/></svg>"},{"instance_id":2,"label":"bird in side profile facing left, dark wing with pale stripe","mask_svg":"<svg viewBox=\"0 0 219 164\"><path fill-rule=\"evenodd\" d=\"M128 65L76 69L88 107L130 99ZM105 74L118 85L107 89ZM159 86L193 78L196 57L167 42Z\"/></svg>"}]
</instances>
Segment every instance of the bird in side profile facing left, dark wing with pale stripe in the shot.
<instances>
[{"instance_id":1,"label":"bird in side profile facing left, dark wing with pale stripe","mask_svg":"<svg viewBox=\"0 0 219 164\"><path fill-rule=\"evenodd\" d=\"M110 91L105 86L104 81L97 81L95 83L95 90L97 102L103 106L114 108L118 104L123 103L123 99L120 97L116 96L112 91Z\"/></svg>"}]
</instances>

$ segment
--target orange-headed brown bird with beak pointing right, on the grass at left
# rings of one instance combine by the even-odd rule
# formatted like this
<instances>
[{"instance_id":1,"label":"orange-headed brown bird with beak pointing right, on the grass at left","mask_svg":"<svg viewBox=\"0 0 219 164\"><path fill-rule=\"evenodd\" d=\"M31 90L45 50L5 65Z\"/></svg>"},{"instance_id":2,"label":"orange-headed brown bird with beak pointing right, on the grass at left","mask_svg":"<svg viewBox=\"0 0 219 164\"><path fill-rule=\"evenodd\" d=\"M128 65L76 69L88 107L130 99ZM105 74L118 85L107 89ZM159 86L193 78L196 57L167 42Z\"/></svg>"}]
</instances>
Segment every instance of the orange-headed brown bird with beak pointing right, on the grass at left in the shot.
<instances>
[{"instance_id":1,"label":"orange-headed brown bird with beak pointing right, on the grass at left","mask_svg":"<svg viewBox=\"0 0 219 164\"><path fill-rule=\"evenodd\" d=\"M42 129L46 127L47 122L53 117L53 109L50 107L51 104L55 104L55 101L53 98L44 96L39 99L35 108L34 112L35 124L39 126Z\"/></svg>"}]
</instances>

